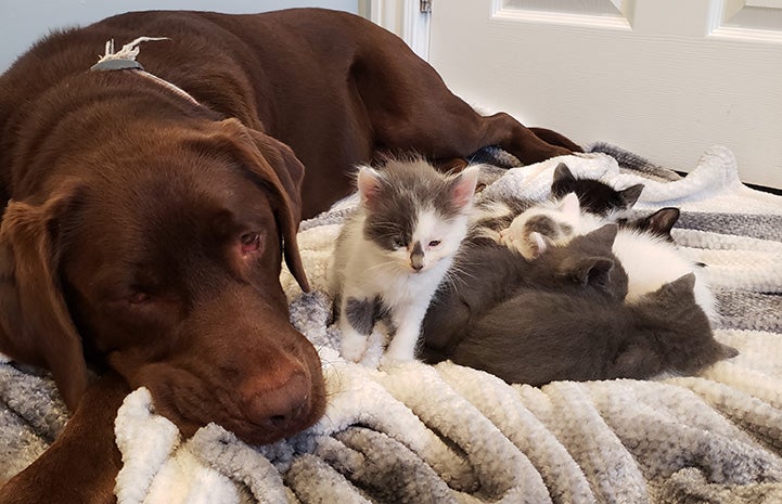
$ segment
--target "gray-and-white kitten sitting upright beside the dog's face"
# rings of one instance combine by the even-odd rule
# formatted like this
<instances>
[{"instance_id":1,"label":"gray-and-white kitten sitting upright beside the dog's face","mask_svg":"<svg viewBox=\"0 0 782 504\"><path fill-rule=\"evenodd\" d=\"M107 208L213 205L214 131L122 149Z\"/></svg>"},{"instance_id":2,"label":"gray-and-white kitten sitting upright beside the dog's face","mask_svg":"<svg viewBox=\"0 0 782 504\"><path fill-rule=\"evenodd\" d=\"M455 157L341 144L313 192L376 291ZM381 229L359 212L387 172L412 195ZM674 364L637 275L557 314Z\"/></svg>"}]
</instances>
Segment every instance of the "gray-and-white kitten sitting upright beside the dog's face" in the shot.
<instances>
[{"instance_id":1,"label":"gray-and-white kitten sitting upright beside the dog's face","mask_svg":"<svg viewBox=\"0 0 782 504\"><path fill-rule=\"evenodd\" d=\"M382 363L414 359L426 308L466 235L478 171L444 176L421 159L360 168L359 208L330 269L345 359L361 360L381 315L395 331Z\"/></svg>"}]
</instances>

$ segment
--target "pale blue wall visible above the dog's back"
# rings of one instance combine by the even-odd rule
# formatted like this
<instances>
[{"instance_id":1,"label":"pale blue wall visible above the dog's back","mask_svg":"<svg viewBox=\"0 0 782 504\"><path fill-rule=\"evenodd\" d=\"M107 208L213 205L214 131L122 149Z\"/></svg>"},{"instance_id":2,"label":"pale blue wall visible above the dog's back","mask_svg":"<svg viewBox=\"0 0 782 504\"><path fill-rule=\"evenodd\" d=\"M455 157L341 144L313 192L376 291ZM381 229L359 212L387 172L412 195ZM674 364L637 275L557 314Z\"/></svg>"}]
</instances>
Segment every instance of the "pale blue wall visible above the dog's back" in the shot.
<instances>
[{"instance_id":1,"label":"pale blue wall visible above the dog's back","mask_svg":"<svg viewBox=\"0 0 782 504\"><path fill-rule=\"evenodd\" d=\"M0 0L0 73L52 28L89 24L126 11L194 10L228 13L324 7L359 13L362 0Z\"/></svg>"}]
</instances>

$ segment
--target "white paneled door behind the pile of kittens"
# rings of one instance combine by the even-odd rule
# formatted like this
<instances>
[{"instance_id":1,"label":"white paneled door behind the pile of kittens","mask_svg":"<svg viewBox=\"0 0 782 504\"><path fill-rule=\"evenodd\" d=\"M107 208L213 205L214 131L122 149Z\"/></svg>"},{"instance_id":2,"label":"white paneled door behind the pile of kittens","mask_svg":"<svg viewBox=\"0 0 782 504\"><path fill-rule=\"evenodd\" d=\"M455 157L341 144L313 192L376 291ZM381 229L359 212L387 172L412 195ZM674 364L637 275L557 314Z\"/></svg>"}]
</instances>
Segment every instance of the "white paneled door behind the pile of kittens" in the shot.
<instances>
[{"instance_id":1,"label":"white paneled door behind the pile of kittens","mask_svg":"<svg viewBox=\"0 0 782 504\"><path fill-rule=\"evenodd\" d=\"M722 144L782 188L782 0L434 0L428 25L471 103L681 170Z\"/></svg>"}]
</instances>

